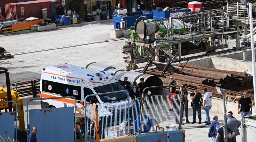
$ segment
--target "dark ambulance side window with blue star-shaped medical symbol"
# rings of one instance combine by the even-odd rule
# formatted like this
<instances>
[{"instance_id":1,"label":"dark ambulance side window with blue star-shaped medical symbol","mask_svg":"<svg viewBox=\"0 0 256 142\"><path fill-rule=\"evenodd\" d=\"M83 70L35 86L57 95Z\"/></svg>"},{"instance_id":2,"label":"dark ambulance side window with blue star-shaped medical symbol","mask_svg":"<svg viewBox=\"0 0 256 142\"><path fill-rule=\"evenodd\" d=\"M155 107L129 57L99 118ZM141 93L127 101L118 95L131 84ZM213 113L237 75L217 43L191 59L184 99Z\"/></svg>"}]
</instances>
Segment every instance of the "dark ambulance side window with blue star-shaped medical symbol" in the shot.
<instances>
[{"instance_id":1,"label":"dark ambulance side window with blue star-shaped medical symbol","mask_svg":"<svg viewBox=\"0 0 256 142\"><path fill-rule=\"evenodd\" d=\"M73 86L68 84L62 84L61 86L61 96L73 96L76 100L81 100L81 87Z\"/></svg>"}]
</instances>

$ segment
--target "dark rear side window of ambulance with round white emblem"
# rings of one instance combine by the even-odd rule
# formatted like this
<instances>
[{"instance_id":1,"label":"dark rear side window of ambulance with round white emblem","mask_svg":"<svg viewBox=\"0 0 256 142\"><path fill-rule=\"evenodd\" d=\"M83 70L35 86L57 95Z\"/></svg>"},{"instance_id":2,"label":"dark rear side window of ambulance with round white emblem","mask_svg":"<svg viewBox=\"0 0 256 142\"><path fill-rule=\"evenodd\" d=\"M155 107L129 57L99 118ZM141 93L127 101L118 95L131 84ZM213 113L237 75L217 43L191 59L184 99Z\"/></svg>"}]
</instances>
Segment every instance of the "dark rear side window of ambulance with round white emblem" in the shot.
<instances>
[{"instance_id":1,"label":"dark rear side window of ambulance with round white emblem","mask_svg":"<svg viewBox=\"0 0 256 142\"><path fill-rule=\"evenodd\" d=\"M55 93L55 94L61 94L61 83L42 80L42 91L43 92L49 92L49 93Z\"/></svg>"}]
</instances>

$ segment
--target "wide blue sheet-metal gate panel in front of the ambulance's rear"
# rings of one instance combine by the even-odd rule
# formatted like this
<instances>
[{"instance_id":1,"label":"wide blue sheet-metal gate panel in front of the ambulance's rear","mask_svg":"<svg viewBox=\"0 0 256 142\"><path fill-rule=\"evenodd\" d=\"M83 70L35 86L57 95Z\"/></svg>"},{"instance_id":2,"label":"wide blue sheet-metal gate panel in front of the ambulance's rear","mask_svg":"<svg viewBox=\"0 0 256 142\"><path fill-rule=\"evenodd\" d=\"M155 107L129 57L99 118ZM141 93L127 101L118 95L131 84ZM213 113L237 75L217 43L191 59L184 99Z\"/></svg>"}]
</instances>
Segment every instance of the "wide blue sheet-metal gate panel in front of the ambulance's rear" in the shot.
<instances>
[{"instance_id":1,"label":"wide blue sheet-metal gate panel in front of the ambulance's rear","mask_svg":"<svg viewBox=\"0 0 256 142\"><path fill-rule=\"evenodd\" d=\"M62 98L74 99L75 106L28 110L30 101ZM76 110L76 99L73 96L30 99L27 102L27 136L29 127L31 131L31 128L35 126L37 127L37 141L76 142L76 111L74 112L74 110Z\"/></svg>"}]
</instances>

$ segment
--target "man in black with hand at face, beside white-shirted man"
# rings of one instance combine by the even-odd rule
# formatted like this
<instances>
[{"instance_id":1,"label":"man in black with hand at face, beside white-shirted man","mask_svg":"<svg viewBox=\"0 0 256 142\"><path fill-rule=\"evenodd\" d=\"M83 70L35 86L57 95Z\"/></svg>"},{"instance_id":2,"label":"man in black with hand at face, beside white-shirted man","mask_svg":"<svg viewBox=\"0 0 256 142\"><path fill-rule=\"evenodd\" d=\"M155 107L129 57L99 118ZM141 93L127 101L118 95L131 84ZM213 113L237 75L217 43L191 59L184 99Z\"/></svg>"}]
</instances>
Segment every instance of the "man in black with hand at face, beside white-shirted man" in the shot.
<instances>
[{"instance_id":1,"label":"man in black with hand at face, beside white-shirted man","mask_svg":"<svg viewBox=\"0 0 256 142\"><path fill-rule=\"evenodd\" d=\"M194 92L192 92L190 94L190 98L192 100L192 109L193 109L193 122L191 124L194 124L196 123L196 111L198 113L198 119L199 119L199 122L198 124L201 124L201 106L202 106L202 101L203 101L203 98L202 98L202 95L201 93L198 92L197 88L195 87L194 88ZM201 101L200 101L201 99Z\"/></svg>"}]
</instances>

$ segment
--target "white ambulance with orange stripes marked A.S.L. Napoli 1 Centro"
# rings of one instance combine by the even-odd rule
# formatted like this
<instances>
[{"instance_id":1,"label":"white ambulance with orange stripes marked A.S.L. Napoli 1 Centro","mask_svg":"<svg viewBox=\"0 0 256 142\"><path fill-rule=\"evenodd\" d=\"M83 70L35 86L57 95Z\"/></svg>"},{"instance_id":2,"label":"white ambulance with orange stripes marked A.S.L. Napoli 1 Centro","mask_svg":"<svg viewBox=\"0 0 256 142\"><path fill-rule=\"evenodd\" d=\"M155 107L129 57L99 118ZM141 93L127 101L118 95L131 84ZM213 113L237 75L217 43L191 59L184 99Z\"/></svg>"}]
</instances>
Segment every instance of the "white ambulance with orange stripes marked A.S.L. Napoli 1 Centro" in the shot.
<instances>
[{"instance_id":1,"label":"white ambulance with orange stripes marked A.S.L. Napoli 1 Centro","mask_svg":"<svg viewBox=\"0 0 256 142\"><path fill-rule=\"evenodd\" d=\"M96 95L88 97L86 102L84 102L85 97L90 94L120 90L124 90L124 87L118 82L118 79L113 73L86 69L66 63L43 68L40 80L41 98L73 96L76 98L76 103L81 103L82 105L93 103L109 104L107 108L109 111L118 111L127 108L126 92ZM131 110L132 99L129 99ZM70 98L49 99L42 100L41 107L59 108L63 106L74 106L74 103L74 99Z\"/></svg>"}]
</instances>

